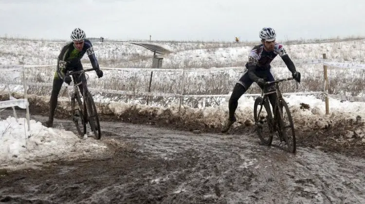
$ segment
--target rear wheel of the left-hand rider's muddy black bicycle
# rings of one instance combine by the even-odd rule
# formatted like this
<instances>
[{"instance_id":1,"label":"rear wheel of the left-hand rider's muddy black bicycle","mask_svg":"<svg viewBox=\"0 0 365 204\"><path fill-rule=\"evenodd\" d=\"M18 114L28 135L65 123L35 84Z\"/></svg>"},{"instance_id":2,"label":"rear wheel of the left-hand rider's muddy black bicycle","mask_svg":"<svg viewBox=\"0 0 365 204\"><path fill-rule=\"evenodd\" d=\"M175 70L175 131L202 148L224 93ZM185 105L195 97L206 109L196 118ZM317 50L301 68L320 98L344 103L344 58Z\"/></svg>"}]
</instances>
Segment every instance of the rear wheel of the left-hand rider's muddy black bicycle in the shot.
<instances>
[{"instance_id":1,"label":"rear wheel of the left-hand rider's muddy black bicycle","mask_svg":"<svg viewBox=\"0 0 365 204\"><path fill-rule=\"evenodd\" d=\"M81 99L77 97L77 92L71 97L71 110L73 111L72 120L75 123L77 133L80 136L86 134L86 123L84 120L84 112Z\"/></svg>"}]
</instances>

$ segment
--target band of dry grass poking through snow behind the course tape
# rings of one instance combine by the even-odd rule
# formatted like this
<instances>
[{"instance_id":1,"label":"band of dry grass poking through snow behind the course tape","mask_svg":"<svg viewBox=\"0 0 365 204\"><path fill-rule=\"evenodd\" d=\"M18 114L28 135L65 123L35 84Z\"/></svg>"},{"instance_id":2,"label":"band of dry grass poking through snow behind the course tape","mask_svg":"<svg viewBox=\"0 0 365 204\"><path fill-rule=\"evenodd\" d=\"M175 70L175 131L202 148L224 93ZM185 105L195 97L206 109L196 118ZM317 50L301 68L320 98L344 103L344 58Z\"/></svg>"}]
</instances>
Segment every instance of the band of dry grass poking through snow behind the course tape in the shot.
<instances>
[{"instance_id":1,"label":"band of dry grass poking through snow behind the course tape","mask_svg":"<svg viewBox=\"0 0 365 204\"><path fill-rule=\"evenodd\" d=\"M209 72L185 72L184 77L182 72L153 72L153 80L151 84L152 92L173 93L184 95L226 95L232 91L233 86L241 76L243 70L216 70ZM329 70L333 75L338 70ZM27 69L26 77L28 82L37 83L52 83L54 68L37 68ZM89 87L100 90L126 90L135 93L147 92L149 85L150 73L148 71L114 71L108 70L108 78L98 80L91 77L89 79ZM289 73L289 72L288 72ZM92 73L91 73L92 74ZM339 77L330 77L329 94L347 94L350 96L361 96L364 93L365 71L358 71L352 78L341 77L341 72L337 73ZM2 76L4 77L4 76ZM1 79L0 80L5 80ZM17 81L13 81L13 83ZM322 91L323 90L323 75L321 72L311 73L310 77L303 75L300 90L296 90L296 85L293 81L282 83L280 86L283 92L297 91ZM19 81L18 81L19 83ZM51 87L30 86L28 93L49 96ZM68 97L71 89L65 88L60 92L60 96ZM260 93L259 87L254 83L246 93ZM112 101L118 102L137 102L146 104L146 96L123 96L120 94L110 94L101 92L93 93L95 96L102 98L110 98ZM192 107L208 107L218 106L222 104L222 97L185 97L184 104ZM149 104L159 106L168 106L169 104L179 104L180 97L151 97Z\"/></svg>"}]
</instances>

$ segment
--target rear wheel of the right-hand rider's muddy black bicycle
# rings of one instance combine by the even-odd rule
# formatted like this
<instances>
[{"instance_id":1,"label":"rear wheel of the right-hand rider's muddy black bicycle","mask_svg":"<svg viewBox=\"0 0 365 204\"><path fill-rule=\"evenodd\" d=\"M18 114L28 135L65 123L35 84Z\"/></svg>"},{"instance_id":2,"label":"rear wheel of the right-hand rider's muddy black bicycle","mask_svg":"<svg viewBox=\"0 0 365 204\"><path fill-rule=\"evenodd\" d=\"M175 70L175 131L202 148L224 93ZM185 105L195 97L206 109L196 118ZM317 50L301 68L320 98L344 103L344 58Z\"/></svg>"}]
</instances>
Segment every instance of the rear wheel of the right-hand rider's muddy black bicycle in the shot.
<instances>
[{"instance_id":1,"label":"rear wheel of the right-hand rider's muddy black bicycle","mask_svg":"<svg viewBox=\"0 0 365 204\"><path fill-rule=\"evenodd\" d=\"M254 119L256 132L263 145L271 145L273 142L273 116L270 103L267 99L257 97L254 104Z\"/></svg>"}]
</instances>

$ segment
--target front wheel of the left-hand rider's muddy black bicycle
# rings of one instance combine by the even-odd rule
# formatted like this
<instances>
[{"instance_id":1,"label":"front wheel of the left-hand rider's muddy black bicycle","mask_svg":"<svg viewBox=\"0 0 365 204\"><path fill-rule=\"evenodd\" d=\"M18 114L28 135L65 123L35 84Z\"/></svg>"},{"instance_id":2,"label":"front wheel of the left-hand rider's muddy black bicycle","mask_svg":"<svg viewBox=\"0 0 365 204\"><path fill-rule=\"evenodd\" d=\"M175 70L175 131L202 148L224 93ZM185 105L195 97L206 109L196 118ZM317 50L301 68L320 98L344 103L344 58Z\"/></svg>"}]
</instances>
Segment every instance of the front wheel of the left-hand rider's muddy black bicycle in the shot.
<instances>
[{"instance_id":1,"label":"front wheel of the left-hand rider's muddy black bicycle","mask_svg":"<svg viewBox=\"0 0 365 204\"><path fill-rule=\"evenodd\" d=\"M101 130L100 130L99 116L98 116L98 113L96 110L94 100L92 99L92 96L89 91L87 91L87 93L86 93L85 102L87 104L87 110L88 110L87 114L88 114L91 131L94 133L94 136L96 139L100 139Z\"/></svg>"}]
</instances>

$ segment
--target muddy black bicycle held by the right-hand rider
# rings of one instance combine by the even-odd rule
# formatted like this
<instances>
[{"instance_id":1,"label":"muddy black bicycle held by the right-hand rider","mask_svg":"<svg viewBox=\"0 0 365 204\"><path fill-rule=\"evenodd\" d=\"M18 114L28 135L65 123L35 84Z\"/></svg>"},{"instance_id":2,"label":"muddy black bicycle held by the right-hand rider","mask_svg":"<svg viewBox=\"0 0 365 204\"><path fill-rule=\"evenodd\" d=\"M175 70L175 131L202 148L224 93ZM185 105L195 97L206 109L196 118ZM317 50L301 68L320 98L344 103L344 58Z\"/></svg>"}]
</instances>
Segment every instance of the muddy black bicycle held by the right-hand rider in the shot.
<instances>
[{"instance_id":1,"label":"muddy black bicycle held by the right-hand rider","mask_svg":"<svg viewBox=\"0 0 365 204\"><path fill-rule=\"evenodd\" d=\"M261 97L257 97L254 104L254 118L256 125L256 132L261 140L261 144L270 146L273 142L273 135L276 132L280 142L285 141L287 144L287 151L295 153L296 141L295 130L287 102L283 99L283 95L279 88L279 83L293 80L294 78L279 79L273 82L266 82L265 87L274 84L274 90L266 92L262 89ZM276 93L276 103L274 107L274 119L271 112L271 105L269 101L269 94ZM265 109L265 113L263 108Z\"/></svg>"}]
</instances>

